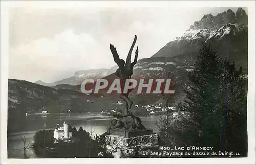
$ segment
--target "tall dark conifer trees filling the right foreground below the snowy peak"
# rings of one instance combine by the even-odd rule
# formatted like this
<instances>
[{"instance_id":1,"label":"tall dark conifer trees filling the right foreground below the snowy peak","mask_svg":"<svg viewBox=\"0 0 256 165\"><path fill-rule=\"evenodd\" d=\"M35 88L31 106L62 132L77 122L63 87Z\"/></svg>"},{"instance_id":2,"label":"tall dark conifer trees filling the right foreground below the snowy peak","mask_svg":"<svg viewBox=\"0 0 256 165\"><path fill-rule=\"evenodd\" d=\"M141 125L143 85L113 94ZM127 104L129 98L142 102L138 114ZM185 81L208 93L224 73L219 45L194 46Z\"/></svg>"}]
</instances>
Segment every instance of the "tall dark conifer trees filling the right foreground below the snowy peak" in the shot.
<instances>
[{"instance_id":1,"label":"tall dark conifer trees filling the right foreground below the snowy peak","mask_svg":"<svg viewBox=\"0 0 256 165\"><path fill-rule=\"evenodd\" d=\"M211 146L216 151L239 151L247 155L247 80L235 64L222 59L203 44L189 73L186 99L178 105L180 116L170 124L177 144ZM166 123L167 124L167 123Z\"/></svg>"}]
</instances>

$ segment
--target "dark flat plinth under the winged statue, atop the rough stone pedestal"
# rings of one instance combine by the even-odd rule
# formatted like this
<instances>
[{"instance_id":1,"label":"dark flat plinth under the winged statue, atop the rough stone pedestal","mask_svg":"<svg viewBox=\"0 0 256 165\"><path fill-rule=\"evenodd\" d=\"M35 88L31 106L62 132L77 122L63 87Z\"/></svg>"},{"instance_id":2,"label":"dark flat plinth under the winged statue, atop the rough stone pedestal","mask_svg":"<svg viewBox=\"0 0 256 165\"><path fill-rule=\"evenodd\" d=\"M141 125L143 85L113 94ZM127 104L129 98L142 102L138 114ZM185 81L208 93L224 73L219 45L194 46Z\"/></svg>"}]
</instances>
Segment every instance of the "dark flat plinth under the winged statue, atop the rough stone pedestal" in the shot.
<instances>
[{"instance_id":1,"label":"dark flat plinth under the winged statue, atop the rough stone pedestal","mask_svg":"<svg viewBox=\"0 0 256 165\"><path fill-rule=\"evenodd\" d=\"M123 130L123 129L111 129L110 134L119 135L123 137L136 137L143 135L151 135L153 134L152 129L144 129L144 130Z\"/></svg>"}]
</instances>

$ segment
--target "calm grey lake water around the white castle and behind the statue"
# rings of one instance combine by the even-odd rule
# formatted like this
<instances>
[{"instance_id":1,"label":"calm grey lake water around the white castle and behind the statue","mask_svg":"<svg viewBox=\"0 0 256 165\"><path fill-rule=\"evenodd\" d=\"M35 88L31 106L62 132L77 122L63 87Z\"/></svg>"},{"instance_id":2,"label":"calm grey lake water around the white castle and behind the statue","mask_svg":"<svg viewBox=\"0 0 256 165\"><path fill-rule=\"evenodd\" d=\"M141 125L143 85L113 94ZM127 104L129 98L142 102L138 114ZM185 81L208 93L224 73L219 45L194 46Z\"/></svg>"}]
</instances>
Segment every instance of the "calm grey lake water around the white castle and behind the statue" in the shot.
<instances>
[{"instance_id":1,"label":"calm grey lake water around the white castle and behind the statue","mask_svg":"<svg viewBox=\"0 0 256 165\"><path fill-rule=\"evenodd\" d=\"M153 129L155 133L158 132L156 126L158 117L142 116L140 119L146 128ZM99 113L47 114L46 116L42 116L41 114L28 115L20 131L8 134L8 158L24 158L24 150L22 150L24 143L20 136L25 136L26 144L31 144L31 148L26 152L27 156L36 158L32 149L35 132L42 129L55 128L57 123L62 125L64 121L68 122L72 127L76 127L77 130L79 127L82 127L84 130L91 133L92 137L96 134L103 134L110 126L110 116L103 116Z\"/></svg>"}]
</instances>

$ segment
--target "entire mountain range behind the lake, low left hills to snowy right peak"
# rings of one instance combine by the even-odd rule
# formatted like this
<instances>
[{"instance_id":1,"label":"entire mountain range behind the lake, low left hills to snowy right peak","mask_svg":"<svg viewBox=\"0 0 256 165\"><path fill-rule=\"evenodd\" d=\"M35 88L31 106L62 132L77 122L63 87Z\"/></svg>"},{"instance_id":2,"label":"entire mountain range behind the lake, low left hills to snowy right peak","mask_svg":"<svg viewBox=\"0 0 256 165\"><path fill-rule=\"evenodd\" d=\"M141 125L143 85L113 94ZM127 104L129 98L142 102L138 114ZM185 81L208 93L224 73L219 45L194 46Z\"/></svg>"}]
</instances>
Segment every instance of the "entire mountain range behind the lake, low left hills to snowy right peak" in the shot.
<instances>
[{"instance_id":1,"label":"entire mountain range behind the lake, low left hills to snowy right peak","mask_svg":"<svg viewBox=\"0 0 256 165\"><path fill-rule=\"evenodd\" d=\"M151 58L138 60L134 66L134 78L166 78L166 73L173 79L175 94L173 101L181 101L185 96L182 89L186 86L187 74L193 70L202 43L209 43L221 57L229 56L230 61L243 67L248 73L248 16L239 8L216 16L204 15L195 21L180 37L168 42ZM227 49L228 48L228 49ZM15 119L25 112L101 111L118 107L117 96L84 95L80 92L81 81L85 78L112 79L117 66L106 69L79 70L73 77L54 83L35 83L9 79L8 81L8 120ZM136 104L155 104L162 100L159 95L137 95L131 97ZM102 99L104 98L104 99ZM92 100L88 103L87 100ZM89 108L90 107L90 108ZM120 107L119 107L120 108Z\"/></svg>"}]
</instances>

